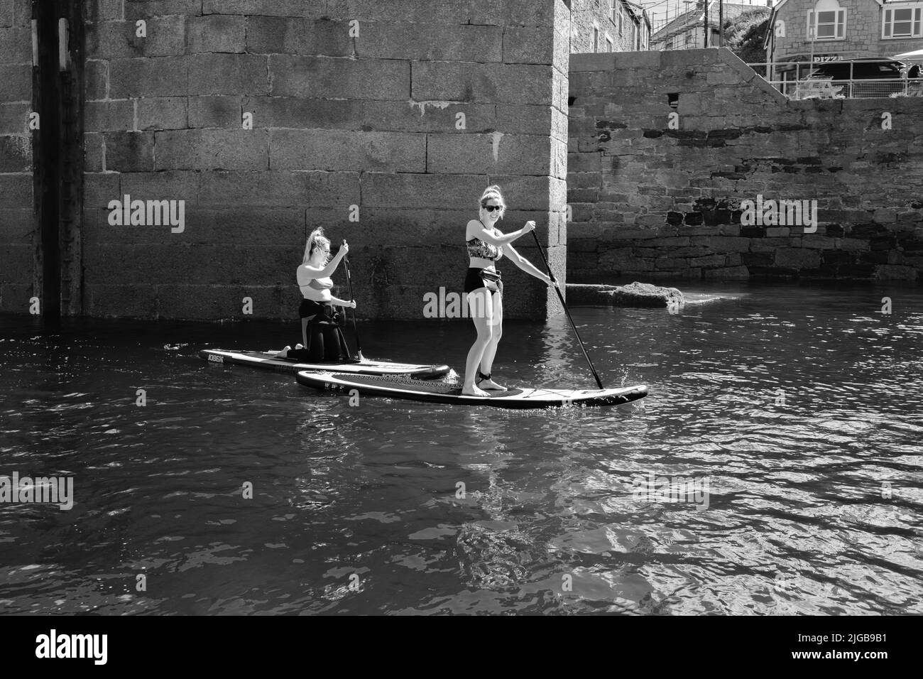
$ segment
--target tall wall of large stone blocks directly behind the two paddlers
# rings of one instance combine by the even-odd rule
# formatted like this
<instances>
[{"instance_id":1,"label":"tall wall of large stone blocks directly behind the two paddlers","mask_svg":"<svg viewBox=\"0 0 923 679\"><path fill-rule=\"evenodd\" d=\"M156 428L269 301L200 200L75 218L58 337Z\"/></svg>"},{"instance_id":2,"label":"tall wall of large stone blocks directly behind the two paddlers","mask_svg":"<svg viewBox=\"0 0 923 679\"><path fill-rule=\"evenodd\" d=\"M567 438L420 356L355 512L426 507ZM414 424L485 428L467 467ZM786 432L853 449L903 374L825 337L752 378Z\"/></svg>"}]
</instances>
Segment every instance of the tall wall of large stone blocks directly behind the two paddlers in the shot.
<instances>
[{"instance_id":1,"label":"tall wall of large stone blocks directly behind the two paddlers","mask_svg":"<svg viewBox=\"0 0 923 679\"><path fill-rule=\"evenodd\" d=\"M360 316L422 318L462 292L490 184L563 272L563 0L93 0L87 21L86 313L292 318L320 225ZM185 200L185 230L110 225L125 195ZM508 315L544 317L545 287L502 268Z\"/></svg>"}]
</instances>

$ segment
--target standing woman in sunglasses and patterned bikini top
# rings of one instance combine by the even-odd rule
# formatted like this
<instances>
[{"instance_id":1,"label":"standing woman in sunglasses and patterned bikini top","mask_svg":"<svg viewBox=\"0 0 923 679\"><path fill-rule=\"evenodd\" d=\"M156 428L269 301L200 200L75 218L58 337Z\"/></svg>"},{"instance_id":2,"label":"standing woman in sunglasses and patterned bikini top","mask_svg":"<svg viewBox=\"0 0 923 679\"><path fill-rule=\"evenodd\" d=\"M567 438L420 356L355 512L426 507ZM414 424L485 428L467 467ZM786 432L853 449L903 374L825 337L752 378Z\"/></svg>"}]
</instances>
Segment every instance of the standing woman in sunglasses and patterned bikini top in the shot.
<instances>
[{"instance_id":1,"label":"standing woman in sunglasses and patterned bikini top","mask_svg":"<svg viewBox=\"0 0 923 679\"><path fill-rule=\"evenodd\" d=\"M465 297L477 339L468 352L465 363L462 394L489 396L484 390L506 391L506 387L494 382L490 370L497 355L497 343L503 335L503 282L494 262L505 254L516 266L529 273L545 285L553 285L551 278L536 269L510 245L520 236L535 228L534 222L526 222L519 231L504 236L495 224L503 219L507 204L496 185L487 187L481 196L479 219L473 219L466 227L465 241L468 245L468 275L464 279Z\"/></svg>"}]
</instances>

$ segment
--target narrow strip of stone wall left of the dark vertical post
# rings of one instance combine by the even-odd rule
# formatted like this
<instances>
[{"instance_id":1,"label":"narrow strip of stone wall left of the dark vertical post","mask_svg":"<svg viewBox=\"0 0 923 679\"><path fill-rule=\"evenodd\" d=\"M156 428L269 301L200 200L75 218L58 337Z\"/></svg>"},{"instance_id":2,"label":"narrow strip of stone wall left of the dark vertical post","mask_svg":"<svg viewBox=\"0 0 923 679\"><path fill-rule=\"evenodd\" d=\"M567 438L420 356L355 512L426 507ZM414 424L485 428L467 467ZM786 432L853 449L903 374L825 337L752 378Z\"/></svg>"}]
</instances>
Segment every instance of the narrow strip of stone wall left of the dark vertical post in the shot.
<instances>
[{"instance_id":1,"label":"narrow strip of stone wall left of the dark vertical post","mask_svg":"<svg viewBox=\"0 0 923 679\"><path fill-rule=\"evenodd\" d=\"M31 6L0 0L0 311L29 312L35 292Z\"/></svg>"}]
</instances>

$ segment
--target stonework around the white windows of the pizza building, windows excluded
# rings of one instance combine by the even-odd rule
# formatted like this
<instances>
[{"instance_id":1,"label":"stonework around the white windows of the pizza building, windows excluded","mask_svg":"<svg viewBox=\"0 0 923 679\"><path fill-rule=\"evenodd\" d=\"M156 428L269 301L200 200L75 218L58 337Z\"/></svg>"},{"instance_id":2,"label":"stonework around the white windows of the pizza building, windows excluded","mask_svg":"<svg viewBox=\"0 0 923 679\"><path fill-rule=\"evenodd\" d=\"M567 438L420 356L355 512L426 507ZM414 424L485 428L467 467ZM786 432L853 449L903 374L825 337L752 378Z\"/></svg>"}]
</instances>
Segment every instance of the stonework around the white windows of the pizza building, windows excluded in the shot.
<instances>
[{"instance_id":1,"label":"stonework around the white windows of the pizza building, windows excluded","mask_svg":"<svg viewBox=\"0 0 923 679\"><path fill-rule=\"evenodd\" d=\"M856 56L892 56L902 52L920 49L920 38L894 40L881 38L881 20L884 9L875 0L838 0L840 8L846 10L846 30L843 40L814 41L816 55L840 52L860 53ZM910 0L923 6L923 0ZM816 0L788 0L778 10L777 19L785 21L785 37L775 38L775 61L785 61L793 55L809 55L811 42L808 40L808 13L813 11Z\"/></svg>"}]
</instances>

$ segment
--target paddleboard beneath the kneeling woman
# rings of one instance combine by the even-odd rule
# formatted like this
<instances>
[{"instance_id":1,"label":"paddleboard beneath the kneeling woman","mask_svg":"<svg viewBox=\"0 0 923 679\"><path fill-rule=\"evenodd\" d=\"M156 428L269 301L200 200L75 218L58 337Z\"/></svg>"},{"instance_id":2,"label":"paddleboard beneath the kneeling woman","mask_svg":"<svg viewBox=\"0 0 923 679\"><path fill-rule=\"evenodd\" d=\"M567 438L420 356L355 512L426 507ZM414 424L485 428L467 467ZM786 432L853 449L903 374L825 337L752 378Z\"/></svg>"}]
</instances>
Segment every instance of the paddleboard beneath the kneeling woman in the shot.
<instances>
[{"instance_id":1,"label":"paddleboard beneath the kneeling woman","mask_svg":"<svg viewBox=\"0 0 923 679\"><path fill-rule=\"evenodd\" d=\"M429 380L448 374L449 366L425 366L413 363L390 363L388 361L363 360L361 363L304 363L290 358L276 358L274 351L228 351L225 349L202 349L198 358L210 363L249 366L261 370L298 372L299 370L336 370L342 374L354 375L413 375Z\"/></svg>"}]
</instances>

